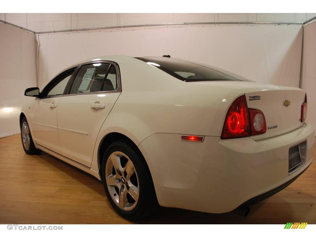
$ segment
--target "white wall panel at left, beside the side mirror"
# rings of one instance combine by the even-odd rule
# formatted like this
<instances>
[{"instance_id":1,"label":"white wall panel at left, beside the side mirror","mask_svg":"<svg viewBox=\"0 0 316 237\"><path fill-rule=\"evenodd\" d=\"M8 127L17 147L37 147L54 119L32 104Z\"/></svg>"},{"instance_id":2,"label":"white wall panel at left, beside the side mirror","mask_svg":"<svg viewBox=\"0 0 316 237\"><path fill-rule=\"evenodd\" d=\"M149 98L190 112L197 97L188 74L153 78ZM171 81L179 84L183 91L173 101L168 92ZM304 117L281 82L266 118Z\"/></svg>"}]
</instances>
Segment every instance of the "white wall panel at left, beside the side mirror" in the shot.
<instances>
[{"instance_id":1,"label":"white wall panel at left, beside the side mirror","mask_svg":"<svg viewBox=\"0 0 316 237\"><path fill-rule=\"evenodd\" d=\"M0 23L0 137L20 133L24 91L36 86L35 35Z\"/></svg>"}]
</instances>

